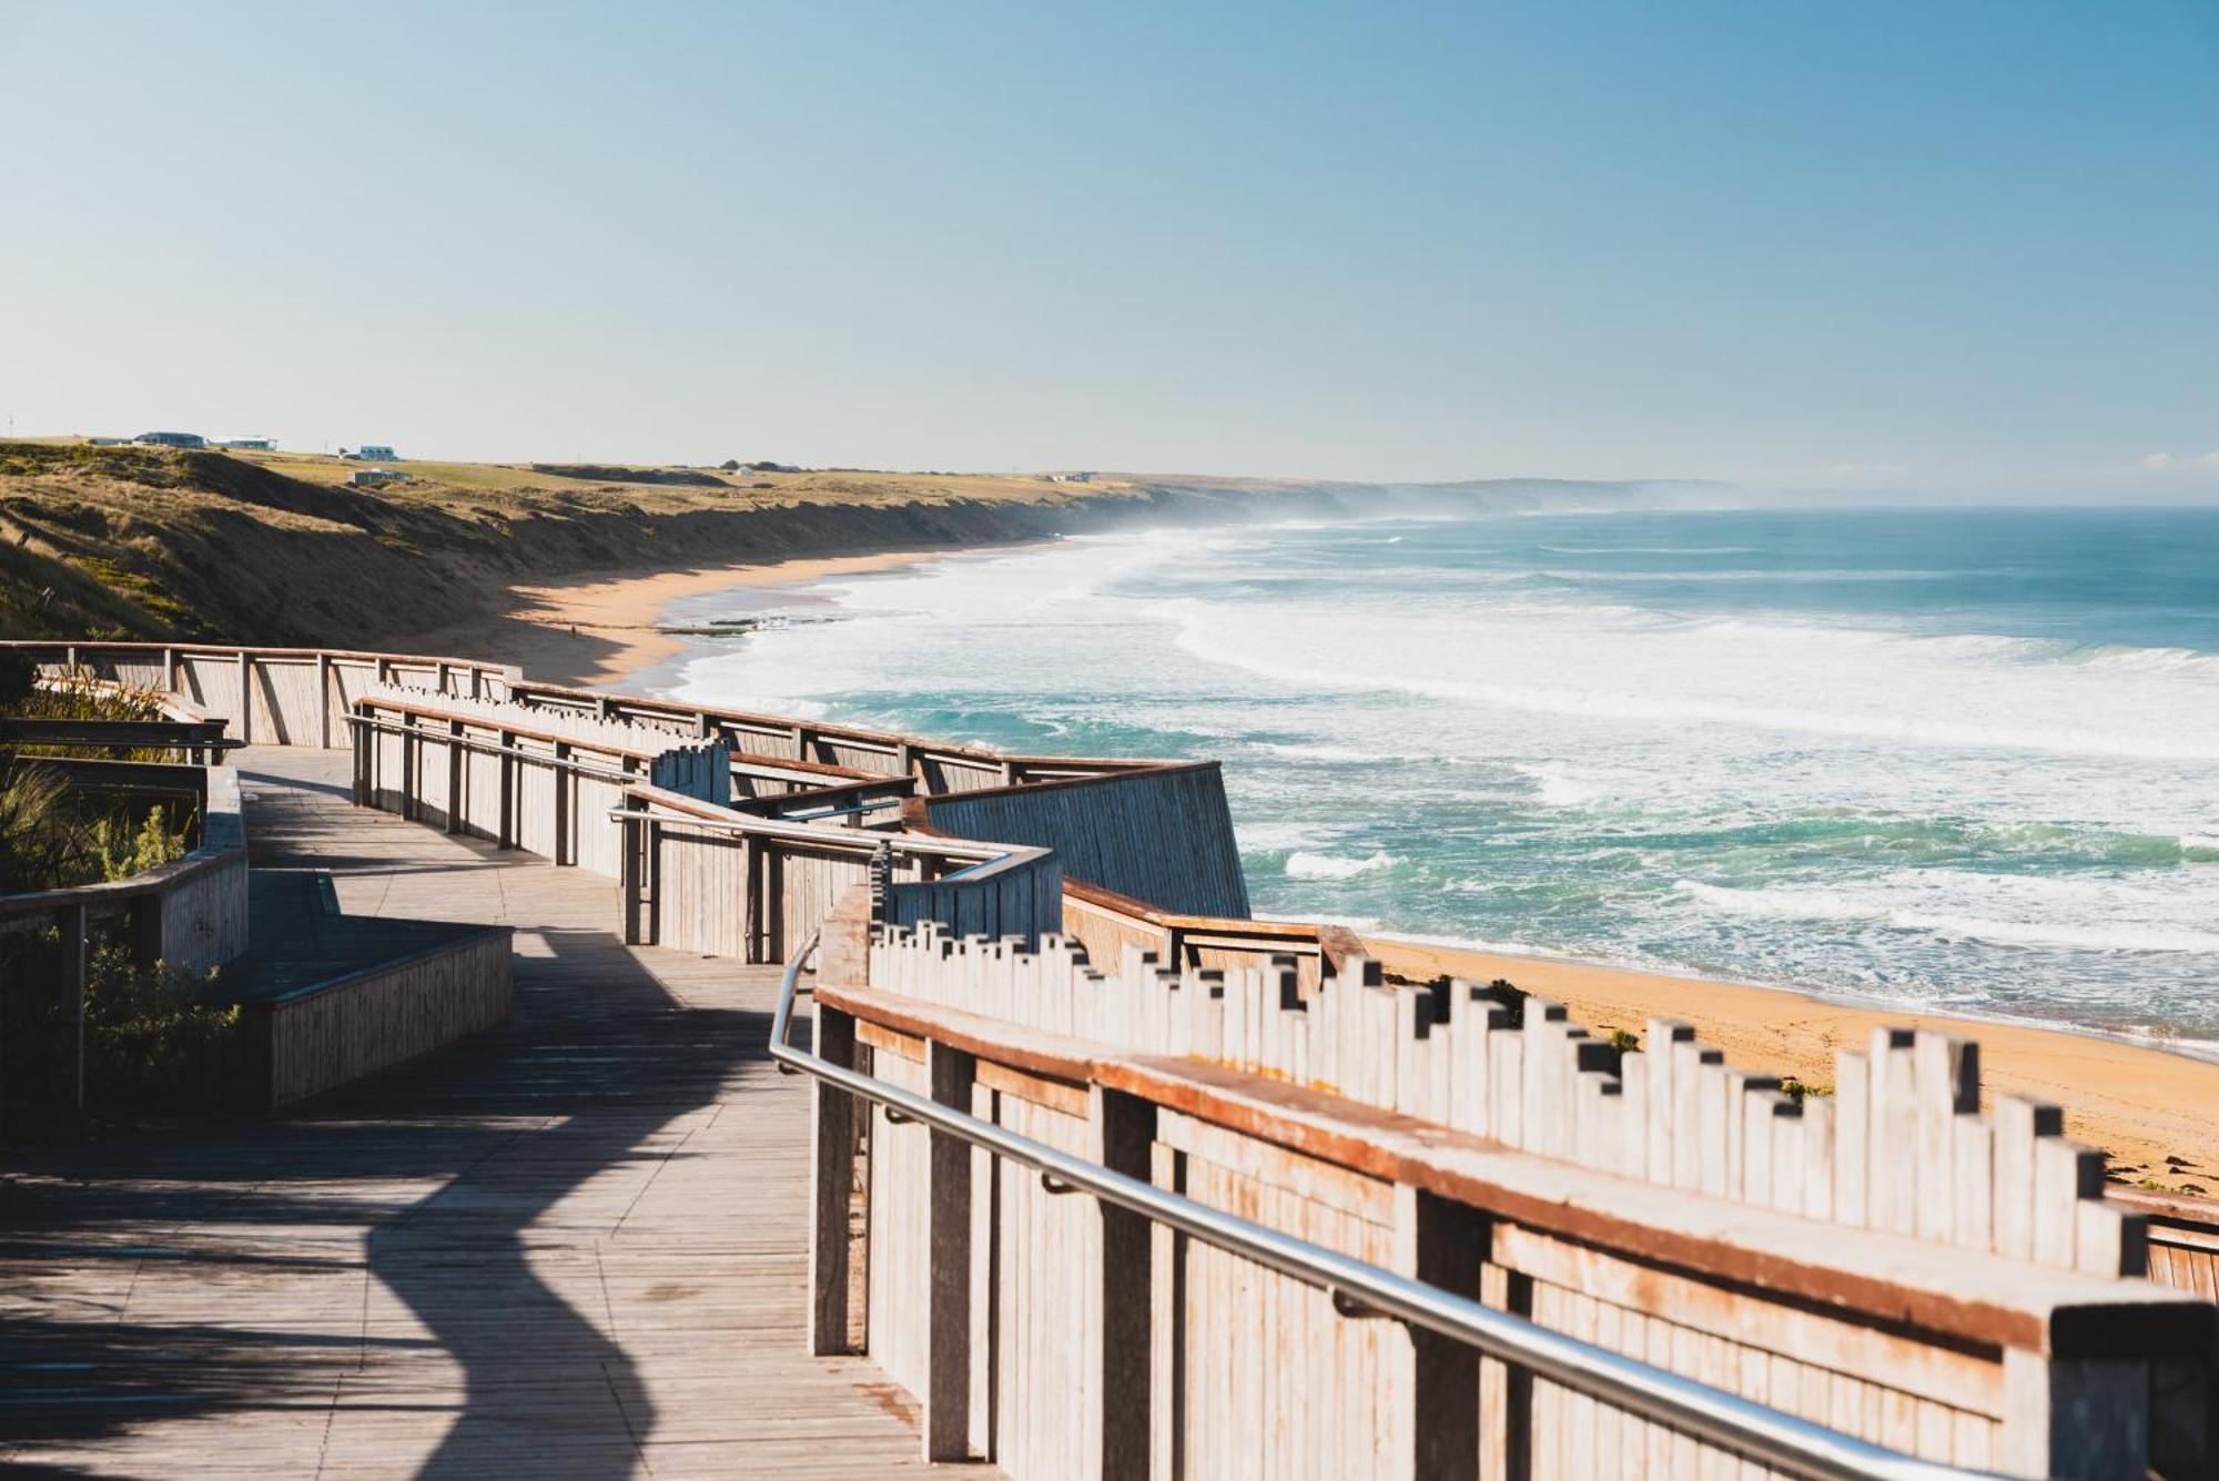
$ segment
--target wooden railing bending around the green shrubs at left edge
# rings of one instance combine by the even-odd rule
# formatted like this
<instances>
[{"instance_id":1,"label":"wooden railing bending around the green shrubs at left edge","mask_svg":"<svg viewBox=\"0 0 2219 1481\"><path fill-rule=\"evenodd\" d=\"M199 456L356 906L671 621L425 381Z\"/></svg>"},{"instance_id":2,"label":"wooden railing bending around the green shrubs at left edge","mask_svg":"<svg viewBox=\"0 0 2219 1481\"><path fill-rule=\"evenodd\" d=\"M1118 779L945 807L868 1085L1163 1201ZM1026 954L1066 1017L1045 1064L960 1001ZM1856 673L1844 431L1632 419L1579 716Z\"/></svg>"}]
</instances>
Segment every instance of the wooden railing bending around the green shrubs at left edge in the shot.
<instances>
[{"instance_id":1,"label":"wooden railing bending around the green shrubs at left edge","mask_svg":"<svg viewBox=\"0 0 2219 1481\"><path fill-rule=\"evenodd\" d=\"M0 933L60 929L60 993L73 1004L75 1100L84 1104L84 989L93 927L124 920L140 967L204 976L246 951L246 825L237 774L224 767L38 760L73 787L178 796L200 818L200 847L126 880L0 896Z\"/></svg>"}]
</instances>

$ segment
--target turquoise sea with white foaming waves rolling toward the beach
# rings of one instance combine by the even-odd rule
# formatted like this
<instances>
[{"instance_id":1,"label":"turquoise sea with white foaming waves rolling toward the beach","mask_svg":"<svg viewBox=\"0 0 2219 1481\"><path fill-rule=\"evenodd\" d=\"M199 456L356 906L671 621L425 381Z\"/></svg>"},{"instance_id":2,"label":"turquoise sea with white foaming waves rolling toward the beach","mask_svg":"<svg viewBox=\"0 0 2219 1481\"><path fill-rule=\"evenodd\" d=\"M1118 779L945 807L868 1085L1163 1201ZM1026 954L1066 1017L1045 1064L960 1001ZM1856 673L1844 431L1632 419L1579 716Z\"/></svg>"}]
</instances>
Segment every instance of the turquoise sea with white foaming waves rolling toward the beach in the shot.
<instances>
[{"instance_id":1,"label":"turquoise sea with white foaming waves rolling toward the beach","mask_svg":"<svg viewBox=\"0 0 2219 1481\"><path fill-rule=\"evenodd\" d=\"M1216 756L1260 913L2219 1040L2219 512L1181 530L814 596L677 687Z\"/></svg>"}]
</instances>

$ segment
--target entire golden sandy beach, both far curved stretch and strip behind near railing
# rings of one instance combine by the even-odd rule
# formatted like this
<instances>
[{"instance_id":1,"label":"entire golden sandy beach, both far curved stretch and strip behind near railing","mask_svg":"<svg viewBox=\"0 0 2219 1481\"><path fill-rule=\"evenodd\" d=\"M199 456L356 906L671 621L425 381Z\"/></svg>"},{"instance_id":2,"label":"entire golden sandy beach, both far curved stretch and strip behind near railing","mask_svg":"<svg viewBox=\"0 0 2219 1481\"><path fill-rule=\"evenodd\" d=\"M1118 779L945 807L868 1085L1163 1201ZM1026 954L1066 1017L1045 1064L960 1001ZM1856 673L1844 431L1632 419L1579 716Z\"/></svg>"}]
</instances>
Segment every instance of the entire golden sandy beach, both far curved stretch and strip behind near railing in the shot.
<instances>
[{"instance_id":1,"label":"entire golden sandy beach, both far curved stretch and strip behind near railing","mask_svg":"<svg viewBox=\"0 0 2219 1481\"><path fill-rule=\"evenodd\" d=\"M426 634L437 652L501 658L533 678L597 687L637 685L683 650L657 630L677 601L717 590L783 590L834 574L888 570L950 550L706 565L652 574L599 574L515 588L515 607L493 621ZM768 605L768 601L766 601ZM1369 944L1391 971L1493 980L1564 1002L1589 1029L1644 1033L1649 1018L1682 1018L1726 1060L1751 1071L1833 1084L1833 1051L1862 1049L1877 1024L1937 1027L1979 1040L1982 1084L2066 1106L2070 1135L2110 1153L2124 1182L2219 1193L2219 1064L2117 1038L2015 1022L1922 1015L1828 1002L1802 991L1673 978L1589 962L1493 956L1391 938Z\"/></svg>"}]
</instances>

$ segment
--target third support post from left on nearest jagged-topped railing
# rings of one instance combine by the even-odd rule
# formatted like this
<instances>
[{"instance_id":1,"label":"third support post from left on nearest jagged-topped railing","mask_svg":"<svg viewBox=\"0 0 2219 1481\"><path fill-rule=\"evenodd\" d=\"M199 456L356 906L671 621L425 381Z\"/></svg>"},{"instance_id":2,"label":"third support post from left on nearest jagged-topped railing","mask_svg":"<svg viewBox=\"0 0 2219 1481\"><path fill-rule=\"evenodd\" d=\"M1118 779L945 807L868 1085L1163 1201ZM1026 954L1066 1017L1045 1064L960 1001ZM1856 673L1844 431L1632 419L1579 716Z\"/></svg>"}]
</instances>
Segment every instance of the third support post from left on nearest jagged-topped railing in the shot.
<instances>
[{"instance_id":1,"label":"third support post from left on nearest jagged-topped railing","mask_svg":"<svg viewBox=\"0 0 2219 1481\"><path fill-rule=\"evenodd\" d=\"M1156 1164L1156 1106L1138 1095L1092 1086L1087 1135L1092 1155L1112 1173L1143 1182ZM1101 1481L1147 1481L1149 1352L1154 1348L1154 1230L1147 1217L1094 1199L1101 1213Z\"/></svg>"}]
</instances>

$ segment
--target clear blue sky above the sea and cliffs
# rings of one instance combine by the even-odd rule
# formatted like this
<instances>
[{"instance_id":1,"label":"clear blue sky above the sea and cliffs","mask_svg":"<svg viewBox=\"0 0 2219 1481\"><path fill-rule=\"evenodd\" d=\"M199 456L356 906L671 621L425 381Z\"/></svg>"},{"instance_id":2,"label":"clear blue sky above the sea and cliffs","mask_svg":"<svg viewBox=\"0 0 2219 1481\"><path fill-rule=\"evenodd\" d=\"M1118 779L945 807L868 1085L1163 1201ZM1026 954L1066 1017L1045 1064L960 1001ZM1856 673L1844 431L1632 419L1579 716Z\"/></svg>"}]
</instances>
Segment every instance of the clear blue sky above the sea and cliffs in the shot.
<instances>
[{"instance_id":1,"label":"clear blue sky above the sea and cliffs","mask_svg":"<svg viewBox=\"0 0 2219 1481\"><path fill-rule=\"evenodd\" d=\"M0 151L18 432L2219 486L2215 0L0 0Z\"/></svg>"}]
</instances>

